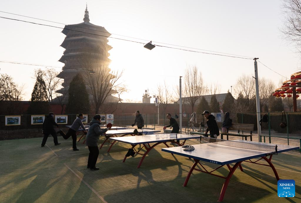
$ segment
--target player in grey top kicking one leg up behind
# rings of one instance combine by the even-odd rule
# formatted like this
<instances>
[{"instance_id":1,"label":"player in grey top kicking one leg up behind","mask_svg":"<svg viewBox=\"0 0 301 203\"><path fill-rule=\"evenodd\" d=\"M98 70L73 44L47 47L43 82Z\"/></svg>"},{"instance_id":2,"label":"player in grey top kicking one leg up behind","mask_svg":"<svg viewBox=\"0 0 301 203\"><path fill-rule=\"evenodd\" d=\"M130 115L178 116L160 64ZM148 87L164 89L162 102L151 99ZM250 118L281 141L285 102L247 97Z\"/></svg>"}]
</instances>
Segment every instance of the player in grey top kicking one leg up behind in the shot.
<instances>
[{"instance_id":1,"label":"player in grey top kicking one leg up behind","mask_svg":"<svg viewBox=\"0 0 301 203\"><path fill-rule=\"evenodd\" d=\"M76 132L78 131L78 129L80 127L82 127L82 129L84 129L84 133L87 133L87 131L85 130L85 126L82 123L82 119L84 118L83 114L78 114L78 117L74 120L74 122L72 123L72 126L68 129L67 134L65 134L61 129L59 131L57 131L57 133L60 133L61 136L67 140L68 138L70 138L70 136L72 137L72 148L73 151L78 151L79 149L76 148Z\"/></svg>"}]
</instances>

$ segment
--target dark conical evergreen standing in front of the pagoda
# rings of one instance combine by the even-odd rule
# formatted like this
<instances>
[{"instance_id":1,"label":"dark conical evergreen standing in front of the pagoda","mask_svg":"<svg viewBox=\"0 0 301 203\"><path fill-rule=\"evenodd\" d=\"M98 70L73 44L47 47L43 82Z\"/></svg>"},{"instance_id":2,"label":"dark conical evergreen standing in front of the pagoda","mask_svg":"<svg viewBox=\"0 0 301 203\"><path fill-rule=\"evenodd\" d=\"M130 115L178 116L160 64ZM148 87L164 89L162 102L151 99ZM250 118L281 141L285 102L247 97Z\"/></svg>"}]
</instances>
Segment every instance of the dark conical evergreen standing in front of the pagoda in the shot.
<instances>
[{"instance_id":1,"label":"dark conical evergreen standing in front of the pagoda","mask_svg":"<svg viewBox=\"0 0 301 203\"><path fill-rule=\"evenodd\" d=\"M66 105L68 114L90 113L89 94L80 74L76 74L71 80L68 95L68 103Z\"/></svg>"}]
</instances>

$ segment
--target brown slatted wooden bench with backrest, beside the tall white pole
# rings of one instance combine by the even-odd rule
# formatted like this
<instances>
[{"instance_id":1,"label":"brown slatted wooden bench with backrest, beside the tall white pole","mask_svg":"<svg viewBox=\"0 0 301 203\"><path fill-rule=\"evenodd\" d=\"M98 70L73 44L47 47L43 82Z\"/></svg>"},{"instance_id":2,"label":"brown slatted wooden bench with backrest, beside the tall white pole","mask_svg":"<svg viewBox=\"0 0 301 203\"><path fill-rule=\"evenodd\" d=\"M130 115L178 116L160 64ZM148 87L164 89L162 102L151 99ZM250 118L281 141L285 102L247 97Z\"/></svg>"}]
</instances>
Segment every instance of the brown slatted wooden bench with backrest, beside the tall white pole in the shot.
<instances>
[{"instance_id":1,"label":"brown slatted wooden bench with backrest, beside the tall white pole","mask_svg":"<svg viewBox=\"0 0 301 203\"><path fill-rule=\"evenodd\" d=\"M237 130L237 133L229 132L229 130ZM250 134L244 133L244 131L249 132ZM247 140L247 137L250 137L252 141L252 132L254 131L254 124L243 124L243 123L233 123L231 127L227 130L227 133L220 133L221 139L223 139L223 135L227 135L227 140L229 139L229 135L242 137L243 139ZM241 132L241 133L240 133Z\"/></svg>"}]
</instances>

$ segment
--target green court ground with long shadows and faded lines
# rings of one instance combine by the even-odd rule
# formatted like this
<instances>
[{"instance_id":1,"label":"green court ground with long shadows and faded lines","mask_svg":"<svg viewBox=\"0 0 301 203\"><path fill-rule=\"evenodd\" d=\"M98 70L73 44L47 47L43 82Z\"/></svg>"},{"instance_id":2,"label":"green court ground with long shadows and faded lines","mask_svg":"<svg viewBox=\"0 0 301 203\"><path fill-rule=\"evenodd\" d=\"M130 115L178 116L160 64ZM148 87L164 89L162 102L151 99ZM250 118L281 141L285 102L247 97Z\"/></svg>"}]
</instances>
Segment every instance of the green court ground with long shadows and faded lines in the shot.
<instances>
[{"instance_id":1,"label":"green court ground with long shadows and faded lines","mask_svg":"<svg viewBox=\"0 0 301 203\"><path fill-rule=\"evenodd\" d=\"M195 171L182 187L193 160L162 152L164 144L151 150L140 168L140 155L122 162L130 145L118 143L107 153L105 144L97 162L100 170L90 171L88 148L82 141L77 143L79 151L72 151L71 138L58 140L61 145L54 146L49 137L45 147L42 138L0 141L0 202L216 202L224 182ZM274 155L272 162L280 179L295 180L295 197L277 196L270 167L243 162L244 172L235 171L224 202L301 202L300 152ZM228 172L221 168L218 174Z\"/></svg>"}]
</instances>

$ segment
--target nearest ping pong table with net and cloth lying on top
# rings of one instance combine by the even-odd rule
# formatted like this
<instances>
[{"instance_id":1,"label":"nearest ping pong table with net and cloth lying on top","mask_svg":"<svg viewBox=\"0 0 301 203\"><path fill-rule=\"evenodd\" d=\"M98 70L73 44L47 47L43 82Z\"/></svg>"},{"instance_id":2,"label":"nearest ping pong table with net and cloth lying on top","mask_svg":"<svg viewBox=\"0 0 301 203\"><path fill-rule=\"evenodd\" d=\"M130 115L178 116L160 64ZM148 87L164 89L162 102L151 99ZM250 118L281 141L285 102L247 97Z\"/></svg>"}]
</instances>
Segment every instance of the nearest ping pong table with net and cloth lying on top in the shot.
<instances>
[{"instance_id":1,"label":"nearest ping pong table with net and cloth lying on top","mask_svg":"<svg viewBox=\"0 0 301 203\"><path fill-rule=\"evenodd\" d=\"M203 137L201 137L201 140L202 139ZM234 171L237 169L237 167L240 168L240 171L244 171L244 169L241 166L242 162L269 166L272 168L276 179L279 180L276 168L272 164L273 154L299 149L299 147L293 147L282 144L275 145L246 140L228 141L213 138L209 139L216 140L216 142L192 145L195 148L193 151L185 151L182 147L163 148L162 151L189 157L194 160L194 164L188 172L183 187L187 186L191 173L194 170L224 178L225 182L223 184L218 201L223 201L230 178L233 175ZM251 159L257 160L252 161ZM259 163L259 160L265 160L268 164ZM220 166L216 167L215 169L206 169L204 165L200 163L200 161L210 162ZM231 167L231 163L234 163L234 166ZM198 164L203 168L203 170L196 168ZM226 165L230 171L227 177L213 173L217 169L222 168L224 165Z\"/></svg>"}]
</instances>

